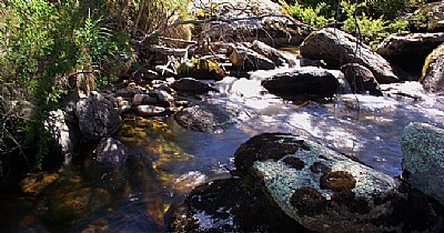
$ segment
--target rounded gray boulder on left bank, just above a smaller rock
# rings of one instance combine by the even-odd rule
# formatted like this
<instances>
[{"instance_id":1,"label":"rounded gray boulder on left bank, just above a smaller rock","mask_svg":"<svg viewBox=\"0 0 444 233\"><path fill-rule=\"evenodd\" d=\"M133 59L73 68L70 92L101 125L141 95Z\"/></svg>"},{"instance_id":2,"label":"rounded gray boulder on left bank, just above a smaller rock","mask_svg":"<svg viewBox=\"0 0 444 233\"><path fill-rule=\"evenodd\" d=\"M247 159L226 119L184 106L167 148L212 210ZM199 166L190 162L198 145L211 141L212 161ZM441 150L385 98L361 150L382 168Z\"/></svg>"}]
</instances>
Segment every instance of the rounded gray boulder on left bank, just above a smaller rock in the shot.
<instances>
[{"instance_id":1,"label":"rounded gray boulder on left bank, just above a smaller rock","mask_svg":"<svg viewBox=\"0 0 444 233\"><path fill-rule=\"evenodd\" d=\"M87 140L110 136L119 130L121 124L118 110L95 91L77 102L75 115L80 131Z\"/></svg>"}]
</instances>

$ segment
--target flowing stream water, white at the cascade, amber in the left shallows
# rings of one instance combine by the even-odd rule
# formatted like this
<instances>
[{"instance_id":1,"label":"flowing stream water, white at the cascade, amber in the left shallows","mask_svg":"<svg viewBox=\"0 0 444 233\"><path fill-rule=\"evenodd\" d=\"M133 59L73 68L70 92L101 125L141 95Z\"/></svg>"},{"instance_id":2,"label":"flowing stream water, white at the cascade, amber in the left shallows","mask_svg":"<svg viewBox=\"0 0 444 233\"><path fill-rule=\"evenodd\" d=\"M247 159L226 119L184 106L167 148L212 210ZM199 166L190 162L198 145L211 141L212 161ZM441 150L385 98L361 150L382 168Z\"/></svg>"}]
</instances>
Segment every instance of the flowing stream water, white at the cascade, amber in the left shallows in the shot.
<instances>
[{"instance_id":1,"label":"flowing stream water, white at the cascade, amber in the left shallows","mask_svg":"<svg viewBox=\"0 0 444 233\"><path fill-rule=\"evenodd\" d=\"M0 221L10 221L4 223L10 232L164 232L171 206L195 185L228 178L234 151L259 133L300 134L395 176L402 172L403 129L413 121L444 126L444 98L422 93L417 83L385 85L384 97L294 103L261 87L263 77L278 71L215 83L219 92L208 101L234 115L223 132L191 132L172 118L125 119L119 139L135 154L130 165L119 171L88 161L72 165L42 197L3 206L20 214L9 210L14 214Z\"/></svg>"}]
</instances>

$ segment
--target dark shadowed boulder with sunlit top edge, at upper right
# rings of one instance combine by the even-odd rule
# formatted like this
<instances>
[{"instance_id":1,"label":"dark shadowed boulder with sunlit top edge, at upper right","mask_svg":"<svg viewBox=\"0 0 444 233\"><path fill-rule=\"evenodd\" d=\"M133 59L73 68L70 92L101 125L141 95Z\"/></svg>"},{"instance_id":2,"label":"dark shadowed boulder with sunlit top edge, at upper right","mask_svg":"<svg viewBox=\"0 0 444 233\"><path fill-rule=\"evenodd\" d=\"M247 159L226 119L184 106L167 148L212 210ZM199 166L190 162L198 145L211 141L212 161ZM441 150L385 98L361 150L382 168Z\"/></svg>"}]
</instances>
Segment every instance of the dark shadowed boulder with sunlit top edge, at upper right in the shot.
<instances>
[{"instance_id":1,"label":"dark shadowed boulder with sunlit top edge, at upper right","mask_svg":"<svg viewBox=\"0 0 444 233\"><path fill-rule=\"evenodd\" d=\"M425 58L443 42L444 32L393 34L377 45L376 52L405 71L420 74Z\"/></svg>"}]
</instances>

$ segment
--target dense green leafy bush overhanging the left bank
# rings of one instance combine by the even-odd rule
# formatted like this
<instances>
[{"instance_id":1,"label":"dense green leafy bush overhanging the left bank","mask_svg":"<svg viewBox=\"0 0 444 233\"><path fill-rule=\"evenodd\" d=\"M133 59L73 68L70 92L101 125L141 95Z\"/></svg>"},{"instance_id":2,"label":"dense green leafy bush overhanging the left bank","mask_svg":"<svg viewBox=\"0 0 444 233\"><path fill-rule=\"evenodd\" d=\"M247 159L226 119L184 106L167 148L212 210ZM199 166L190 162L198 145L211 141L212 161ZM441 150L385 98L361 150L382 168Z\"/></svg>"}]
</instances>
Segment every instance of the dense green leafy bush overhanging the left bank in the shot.
<instances>
[{"instance_id":1,"label":"dense green leafy bush overhanging the left bank","mask_svg":"<svg viewBox=\"0 0 444 233\"><path fill-rule=\"evenodd\" d=\"M21 88L28 94L14 98L32 102L37 111L32 119L13 121L19 110L2 110L2 135L9 135L9 140L0 138L0 149L37 145L34 165L41 169L50 141L42 121L67 93L67 75L88 70L97 74L99 84L108 82L104 63L129 53L129 37L112 33L100 17L85 13L77 1L11 0L0 9L0 84ZM1 95L3 100L6 95Z\"/></svg>"}]
</instances>

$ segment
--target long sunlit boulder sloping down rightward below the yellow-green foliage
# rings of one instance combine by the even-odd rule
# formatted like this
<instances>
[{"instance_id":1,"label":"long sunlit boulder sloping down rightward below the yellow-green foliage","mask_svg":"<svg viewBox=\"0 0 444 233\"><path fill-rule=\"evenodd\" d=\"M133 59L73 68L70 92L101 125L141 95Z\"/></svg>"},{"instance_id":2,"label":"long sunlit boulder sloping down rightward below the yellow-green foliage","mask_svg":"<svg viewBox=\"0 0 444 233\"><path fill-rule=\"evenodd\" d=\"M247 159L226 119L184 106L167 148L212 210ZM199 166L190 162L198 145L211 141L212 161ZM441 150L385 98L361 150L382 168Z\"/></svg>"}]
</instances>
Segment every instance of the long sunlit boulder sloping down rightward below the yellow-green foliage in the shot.
<instances>
[{"instance_id":1,"label":"long sunlit boulder sloping down rightward below the yellow-green foliage","mask_svg":"<svg viewBox=\"0 0 444 233\"><path fill-rule=\"evenodd\" d=\"M339 69L346 63L359 63L369 68L380 83L401 80L400 74L380 54L339 29L325 28L310 34L301 44L301 55L307 59L324 60Z\"/></svg>"}]
</instances>

